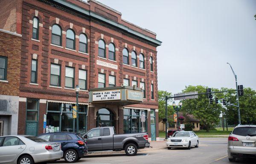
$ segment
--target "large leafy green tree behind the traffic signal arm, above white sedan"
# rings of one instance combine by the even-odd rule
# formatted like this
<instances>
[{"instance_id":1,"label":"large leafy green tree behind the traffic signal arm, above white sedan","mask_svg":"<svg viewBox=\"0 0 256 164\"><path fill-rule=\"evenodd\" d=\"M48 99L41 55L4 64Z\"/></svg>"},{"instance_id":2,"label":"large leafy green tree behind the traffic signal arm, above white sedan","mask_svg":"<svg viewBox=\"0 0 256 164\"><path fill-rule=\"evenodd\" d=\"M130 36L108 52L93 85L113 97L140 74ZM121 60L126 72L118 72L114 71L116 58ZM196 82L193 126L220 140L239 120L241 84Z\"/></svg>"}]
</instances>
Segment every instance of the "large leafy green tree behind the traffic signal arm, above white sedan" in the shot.
<instances>
[{"instance_id":1,"label":"large leafy green tree behind the traffic signal arm, above white sedan","mask_svg":"<svg viewBox=\"0 0 256 164\"><path fill-rule=\"evenodd\" d=\"M206 92L205 86L186 86L182 92ZM218 89L212 89L212 91L218 91ZM198 95L196 99L188 99L182 101L183 105L181 111L185 114L192 114L198 119L201 124L206 128L207 132L219 121L219 115L221 114L222 107L220 104L209 104L209 99L206 95Z\"/></svg>"}]
</instances>

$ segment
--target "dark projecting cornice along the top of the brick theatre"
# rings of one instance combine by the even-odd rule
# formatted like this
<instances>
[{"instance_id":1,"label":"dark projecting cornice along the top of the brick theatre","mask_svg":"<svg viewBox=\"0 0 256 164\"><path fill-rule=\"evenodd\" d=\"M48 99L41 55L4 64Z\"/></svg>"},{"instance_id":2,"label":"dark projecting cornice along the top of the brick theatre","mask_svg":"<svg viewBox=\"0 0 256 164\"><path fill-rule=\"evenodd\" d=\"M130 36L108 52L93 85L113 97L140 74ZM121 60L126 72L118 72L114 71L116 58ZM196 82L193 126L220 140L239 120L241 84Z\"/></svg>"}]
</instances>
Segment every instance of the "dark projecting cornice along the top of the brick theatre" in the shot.
<instances>
[{"instance_id":1,"label":"dark projecting cornice along the top of the brick theatre","mask_svg":"<svg viewBox=\"0 0 256 164\"><path fill-rule=\"evenodd\" d=\"M70 14L74 14L78 17L84 18L86 20L90 20L95 23L98 23L102 26L105 26L109 29L120 32L123 35L127 35L128 37L134 38L141 42L147 43L151 46L157 47L157 46L160 46L162 43L160 40L154 39L152 37L148 37L147 35L134 31L127 26L114 22L113 20L109 20L92 11L83 9L80 6L77 6L76 4L70 3L68 1L64 1L64 0L39 0L39 1L46 3L50 6L53 6L57 9L61 9L65 12L69 12Z\"/></svg>"}]
</instances>

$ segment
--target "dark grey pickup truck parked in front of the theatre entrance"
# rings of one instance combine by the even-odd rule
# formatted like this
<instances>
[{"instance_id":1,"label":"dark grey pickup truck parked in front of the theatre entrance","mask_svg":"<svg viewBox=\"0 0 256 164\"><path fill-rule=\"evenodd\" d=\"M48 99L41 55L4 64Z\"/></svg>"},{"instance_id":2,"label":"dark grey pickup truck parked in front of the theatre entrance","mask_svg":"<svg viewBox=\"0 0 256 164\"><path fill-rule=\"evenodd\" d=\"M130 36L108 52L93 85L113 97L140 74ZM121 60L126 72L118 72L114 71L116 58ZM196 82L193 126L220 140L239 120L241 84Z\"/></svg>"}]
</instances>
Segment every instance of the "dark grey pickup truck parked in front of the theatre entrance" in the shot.
<instances>
[{"instance_id":1,"label":"dark grey pickup truck parked in front of the theatre entrance","mask_svg":"<svg viewBox=\"0 0 256 164\"><path fill-rule=\"evenodd\" d=\"M87 141L88 153L99 151L121 151L126 155L136 155L138 149L150 147L148 133L115 134L114 127L90 129L83 137Z\"/></svg>"}]
</instances>

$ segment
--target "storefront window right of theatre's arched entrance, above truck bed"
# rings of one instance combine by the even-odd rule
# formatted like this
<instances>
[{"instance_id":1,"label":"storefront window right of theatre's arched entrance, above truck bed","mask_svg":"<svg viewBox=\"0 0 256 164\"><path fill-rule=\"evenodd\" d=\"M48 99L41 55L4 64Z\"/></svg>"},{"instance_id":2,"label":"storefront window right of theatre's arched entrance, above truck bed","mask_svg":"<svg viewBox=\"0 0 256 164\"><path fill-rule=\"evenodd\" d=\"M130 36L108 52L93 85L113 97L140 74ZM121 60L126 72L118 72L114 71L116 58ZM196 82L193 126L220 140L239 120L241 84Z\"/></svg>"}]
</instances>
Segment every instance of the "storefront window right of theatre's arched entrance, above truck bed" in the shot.
<instances>
[{"instance_id":1,"label":"storefront window right of theatre's arched entrance, above truck bed","mask_svg":"<svg viewBox=\"0 0 256 164\"><path fill-rule=\"evenodd\" d=\"M124 133L147 131L147 110L124 109Z\"/></svg>"}]
</instances>

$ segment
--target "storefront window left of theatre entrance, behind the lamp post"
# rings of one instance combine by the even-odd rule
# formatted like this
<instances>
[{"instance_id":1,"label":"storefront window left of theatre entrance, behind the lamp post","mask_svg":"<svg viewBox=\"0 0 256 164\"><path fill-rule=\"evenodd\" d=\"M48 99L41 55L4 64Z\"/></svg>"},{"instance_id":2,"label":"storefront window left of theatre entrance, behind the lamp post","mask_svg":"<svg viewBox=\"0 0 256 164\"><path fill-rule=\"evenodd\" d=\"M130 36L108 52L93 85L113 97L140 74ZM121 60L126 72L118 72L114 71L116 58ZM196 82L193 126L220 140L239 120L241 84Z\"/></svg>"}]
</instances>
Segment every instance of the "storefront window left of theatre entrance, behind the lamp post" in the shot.
<instances>
[{"instance_id":1,"label":"storefront window left of theatre entrance, behind the lamp post","mask_svg":"<svg viewBox=\"0 0 256 164\"><path fill-rule=\"evenodd\" d=\"M48 102L47 132L73 132L73 106ZM79 105L79 132L87 129L87 105ZM75 119L76 129L76 119Z\"/></svg>"}]
</instances>

